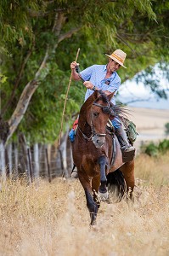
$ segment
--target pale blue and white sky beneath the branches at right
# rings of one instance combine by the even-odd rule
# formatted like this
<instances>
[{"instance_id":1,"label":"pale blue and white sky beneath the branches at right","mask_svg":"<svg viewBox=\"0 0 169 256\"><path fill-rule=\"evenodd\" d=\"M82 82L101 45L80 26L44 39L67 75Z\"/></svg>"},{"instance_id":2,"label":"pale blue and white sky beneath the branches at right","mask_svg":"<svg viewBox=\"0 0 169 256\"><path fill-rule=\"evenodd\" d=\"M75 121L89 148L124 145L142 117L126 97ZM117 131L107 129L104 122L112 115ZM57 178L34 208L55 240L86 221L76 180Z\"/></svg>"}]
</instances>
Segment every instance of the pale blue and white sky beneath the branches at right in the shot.
<instances>
[{"instance_id":1,"label":"pale blue and white sky beneath the branches at right","mask_svg":"<svg viewBox=\"0 0 169 256\"><path fill-rule=\"evenodd\" d=\"M166 81L163 81L162 84L164 89L168 88ZM167 90L167 95L167 100L157 100L149 88L144 87L144 84L142 83L136 84L133 79L121 84L119 96L116 96L116 99L119 99L122 103L127 103L128 106L135 108L169 109L169 90Z\"/></svg>"}]
</instances>

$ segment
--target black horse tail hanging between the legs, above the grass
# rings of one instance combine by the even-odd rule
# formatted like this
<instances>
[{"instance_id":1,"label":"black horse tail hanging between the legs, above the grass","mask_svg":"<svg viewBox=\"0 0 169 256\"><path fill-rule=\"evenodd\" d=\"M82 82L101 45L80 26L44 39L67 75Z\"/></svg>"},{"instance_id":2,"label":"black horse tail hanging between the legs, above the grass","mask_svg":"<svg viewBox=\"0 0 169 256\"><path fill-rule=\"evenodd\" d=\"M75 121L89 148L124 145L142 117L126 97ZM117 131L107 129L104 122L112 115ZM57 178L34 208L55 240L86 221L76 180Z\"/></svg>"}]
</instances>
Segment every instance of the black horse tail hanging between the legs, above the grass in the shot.
<instances>
[{"instance_id":1,"label":"black horse tail hanging between the legs, above the grass","mask_svg":"<svg viewBox=\"0 0 169 256\"><path fill-rule=\"evenodd\" d=\"M107 175L107 187L113 197L113 201L119 202L125 197L127 192L127 184L122 172L117 169Z\"/></svg>"}]
</instances>

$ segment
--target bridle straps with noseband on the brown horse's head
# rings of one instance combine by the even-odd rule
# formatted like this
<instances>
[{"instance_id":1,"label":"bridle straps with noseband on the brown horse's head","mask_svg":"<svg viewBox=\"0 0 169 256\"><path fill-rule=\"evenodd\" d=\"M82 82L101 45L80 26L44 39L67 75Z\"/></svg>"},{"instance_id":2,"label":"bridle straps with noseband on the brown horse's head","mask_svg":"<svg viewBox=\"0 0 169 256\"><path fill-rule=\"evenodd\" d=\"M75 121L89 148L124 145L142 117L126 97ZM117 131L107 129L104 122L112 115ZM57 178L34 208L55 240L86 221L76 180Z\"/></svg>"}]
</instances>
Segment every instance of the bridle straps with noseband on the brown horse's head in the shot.
<instances>
[{"instance_id":1,"label":"bridle straps with noseband on the brown horse's head","mask_svg":"<svg viewBox=\"0 0 169 256\"><path fill-rule=\"evenodd\" d=\"M99 103L97 103L97 102L93 102L93 105L95 105L95 106L97 106L97 107L99 107L99 108L102 108L103 113L114 114L113 109L110 107L110 103L109 103L109 102L107 102L107 103L108 103L107 106L103 106L103 105L101 105L101 104L99 104ZM78 125L78 128L77 128L79 131L81 131L82 136L83 136L85 139L87 139L87 141L93 140L93 137L94 137L94 136L95 136L95 137L105 137L105 136L106 136L105 133L96 133L96 132L94 131L92 116L91 116L91 124L90 124L90 127L91 127L91 136L90 136L90 137L87 137L87 136L82 132L82 130L81 130L81 128L79 127L79 125Z\"/></svg>"}]
</instances>

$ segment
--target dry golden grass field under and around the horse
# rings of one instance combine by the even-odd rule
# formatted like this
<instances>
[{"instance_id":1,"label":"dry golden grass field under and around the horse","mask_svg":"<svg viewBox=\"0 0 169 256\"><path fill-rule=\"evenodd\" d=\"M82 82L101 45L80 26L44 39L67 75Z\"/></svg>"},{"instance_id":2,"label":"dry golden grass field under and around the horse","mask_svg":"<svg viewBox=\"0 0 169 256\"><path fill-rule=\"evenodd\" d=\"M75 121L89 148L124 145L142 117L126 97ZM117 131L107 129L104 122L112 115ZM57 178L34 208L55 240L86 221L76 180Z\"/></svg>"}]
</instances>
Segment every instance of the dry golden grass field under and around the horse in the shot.
<instances>
[{"instance_id":1,"label":"dry golden grass field under and around the horse","mask_svg":"<svg viewBox=\"0 0 169 256\"><path fill-rule=\"evenodd\" d=\"M102 203L93 228L77 180L3 183L0 255L169 255L168 166L168 156L140 155L139 199L133 207Z\"/></svg>"}]
</instances>

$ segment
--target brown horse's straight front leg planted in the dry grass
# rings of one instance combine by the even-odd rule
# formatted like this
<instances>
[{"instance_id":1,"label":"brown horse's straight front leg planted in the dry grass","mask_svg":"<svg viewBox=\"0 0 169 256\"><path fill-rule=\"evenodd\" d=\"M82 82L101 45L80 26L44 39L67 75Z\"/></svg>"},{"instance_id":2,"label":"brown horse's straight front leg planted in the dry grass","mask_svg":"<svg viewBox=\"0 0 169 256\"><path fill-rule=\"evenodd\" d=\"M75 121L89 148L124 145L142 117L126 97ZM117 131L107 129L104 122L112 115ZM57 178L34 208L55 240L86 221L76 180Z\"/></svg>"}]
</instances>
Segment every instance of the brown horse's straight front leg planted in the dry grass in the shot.
<instances>
[{"instance_id":1,"label":"brown horse's straight front leg planted in the dry grass","mask_svg":"<svg viewBox=\"0 0 169 256\"><path fill-rule=\"evenodd\" d=\"M86 200L87 200L87 208L90 212L90 218L91 218L91 225L95 224L99 205L93 200L93 191L92 187L90 185L89 178L84 174L79 172L78 173L79 180L82 183L82 187L85 191Z\"/></svg>"}]
</instances>

